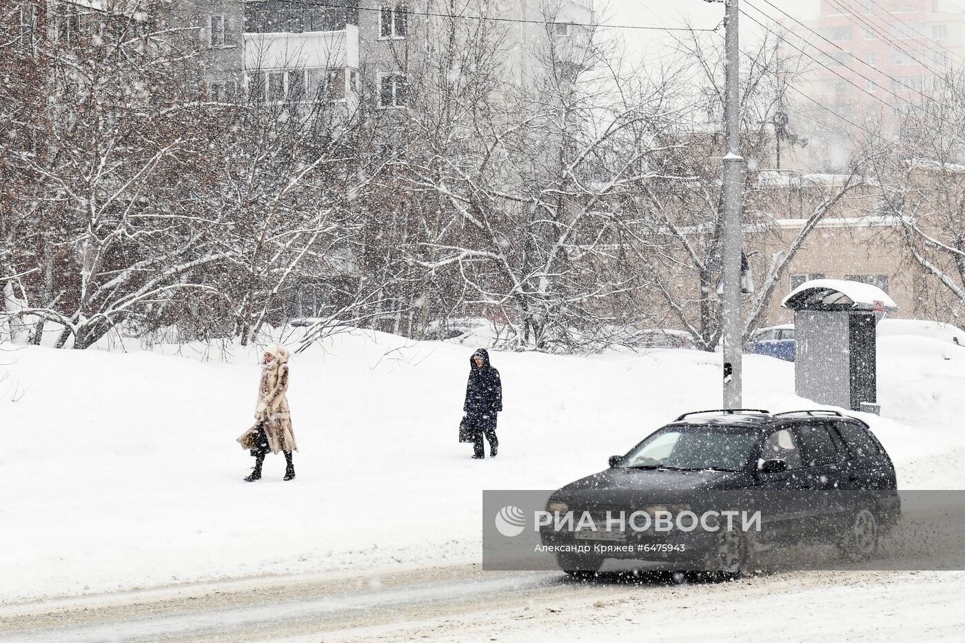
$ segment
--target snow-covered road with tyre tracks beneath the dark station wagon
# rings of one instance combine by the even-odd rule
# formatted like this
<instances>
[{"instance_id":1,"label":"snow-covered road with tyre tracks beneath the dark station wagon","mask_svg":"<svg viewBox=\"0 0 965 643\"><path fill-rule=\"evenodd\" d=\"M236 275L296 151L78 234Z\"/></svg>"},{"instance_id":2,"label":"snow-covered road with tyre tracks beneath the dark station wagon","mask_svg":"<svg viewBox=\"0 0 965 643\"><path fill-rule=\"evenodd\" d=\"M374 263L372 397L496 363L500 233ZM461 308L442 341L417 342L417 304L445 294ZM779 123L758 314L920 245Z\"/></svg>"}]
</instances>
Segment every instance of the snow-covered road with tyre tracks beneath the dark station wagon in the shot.
<instances>
[{"instance_id":1,"label":"snow-covered road with tyre tracks beneath the dark station wagon","mask_svg":"<svg viewBox=\"0 0 965 643\"><path fill-rule=\"evenodd\" d=\"M965 573L784 573L726 583L668 574L484 573L428 568L257 578L0 608L0 640L955 641ZM544 636L543 636L544 635Z\"/></svg>"}]
</instances>

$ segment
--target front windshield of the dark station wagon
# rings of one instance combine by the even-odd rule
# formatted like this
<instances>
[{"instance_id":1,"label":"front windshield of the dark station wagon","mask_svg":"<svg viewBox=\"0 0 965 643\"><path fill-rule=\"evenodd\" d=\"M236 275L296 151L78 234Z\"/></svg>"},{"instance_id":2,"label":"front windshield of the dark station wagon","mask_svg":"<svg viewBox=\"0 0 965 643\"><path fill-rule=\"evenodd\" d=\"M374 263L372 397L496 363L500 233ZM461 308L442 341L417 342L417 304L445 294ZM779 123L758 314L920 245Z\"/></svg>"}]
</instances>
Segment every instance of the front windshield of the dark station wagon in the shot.
<instances>
[{"instance_id":1,"label":"front windshield of the dark station wagon","mask_svg":"<svg viewBox=\"0 0 965 643\"><path fill-rule=\"evenodd\" d=\"M750 460L756 441L751 427L665 427L638 444L617 466L739 471Z\"/></svg>"}]
</instances>

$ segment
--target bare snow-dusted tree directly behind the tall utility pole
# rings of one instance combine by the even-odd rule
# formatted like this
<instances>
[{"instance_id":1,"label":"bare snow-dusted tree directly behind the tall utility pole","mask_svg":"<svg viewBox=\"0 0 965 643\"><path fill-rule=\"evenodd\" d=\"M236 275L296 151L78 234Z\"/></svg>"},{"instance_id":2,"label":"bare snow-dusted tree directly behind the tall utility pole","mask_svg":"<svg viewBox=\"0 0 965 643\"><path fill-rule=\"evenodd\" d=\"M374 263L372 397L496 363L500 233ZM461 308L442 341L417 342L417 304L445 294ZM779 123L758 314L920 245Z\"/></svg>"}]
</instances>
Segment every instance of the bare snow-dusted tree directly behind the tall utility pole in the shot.
<instances>
[{"instance_id":1,"label":"bare snow-dusted tree directly behind the tall utility pole","mask_svg":"<svg viewBox=\"0 0 965 643\"><path fill-rule=\"evenodd\" d=\"M715 38L710 36L709 38ZM721 275L720 158L724 154L719 132L724 110L724 57L720 47L699 34L678 40L681 60L693 70L688 80L697 89L694 109L683 124L665 137L670 150L665 163L686 182L654 182L647 199L651 238L663 239L652 254L654 295L665 303L665 319L688 330L703 349L713 349L721 334L718 284ZM793 173L769 165L780 131L771 129L775 116L793 108L788 85L799 81L807 68L799 57L789 57L780 35L768 32L741 61L741 147L750 162L745 173L744 247L748 270L758 271L760 288L747 297L745 334L765 320L767 308L786 266L804 245L820 220L861 182L863 162L853 163L838 184L802 185ZM703 126L702 126L703 124ZM789 190L810 192L811 210L793 238L777 229L779 210ZM782 247L761 257L768 246ZM763 261L761 261L763 260Z\"/></svg>"}]
</instances>

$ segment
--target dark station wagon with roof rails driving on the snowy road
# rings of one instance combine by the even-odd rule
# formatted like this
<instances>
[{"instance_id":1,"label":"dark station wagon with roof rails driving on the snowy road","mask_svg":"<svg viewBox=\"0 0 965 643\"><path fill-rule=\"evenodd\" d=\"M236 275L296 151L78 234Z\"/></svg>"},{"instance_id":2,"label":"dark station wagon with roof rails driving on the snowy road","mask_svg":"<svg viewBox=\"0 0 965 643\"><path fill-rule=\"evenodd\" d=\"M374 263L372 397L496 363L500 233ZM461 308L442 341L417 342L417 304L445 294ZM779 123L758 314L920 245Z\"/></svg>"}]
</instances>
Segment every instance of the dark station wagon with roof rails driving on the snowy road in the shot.
<instances>
[{"instance_id":1,"label":"dark station wagon with roof rails driving on the snowy road","mask_svg":"<svg viewBox=\"0 0 965 643\"><path fill-rule=\"evenodd\" d=\"M809 544L865 560L900 514L884 447L865 422L837 411L685 413L609 464L549 499L557 519L540 537L566 573L595 572L606 558L739 573L757 552ZM722 503L763 508L763 518L721 528L709 510ZM572 527L584 514L590 528L565 528L561 518ZM657 533L650 518L661 514L681 518L679 528Z\"/></svg>"}]
</instances>

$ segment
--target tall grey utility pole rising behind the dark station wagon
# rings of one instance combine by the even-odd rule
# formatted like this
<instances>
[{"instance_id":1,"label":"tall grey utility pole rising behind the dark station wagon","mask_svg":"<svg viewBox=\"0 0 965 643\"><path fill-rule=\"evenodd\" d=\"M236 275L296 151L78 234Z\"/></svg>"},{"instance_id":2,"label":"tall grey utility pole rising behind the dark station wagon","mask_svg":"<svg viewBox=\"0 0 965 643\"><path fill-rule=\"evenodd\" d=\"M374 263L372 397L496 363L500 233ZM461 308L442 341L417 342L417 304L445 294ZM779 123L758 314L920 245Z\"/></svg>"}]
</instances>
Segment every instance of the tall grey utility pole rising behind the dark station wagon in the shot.
<instances>
[{"instance_id":1,"label":"tall grey utility pole rising behind the dark station wagon","mask_svg":"<svg viewBox=\"0 0 965 643\"><path fill-rule=\"evenodd\" d=\"M741 210L744 208L744 157L740 155L740 37L737 31L737 0L726 0L727 33L727 154L724 156L723 242L723 339L724 407L739 408L742 397L744 317L740 310Z\"/></svg>"}]
</instances>

